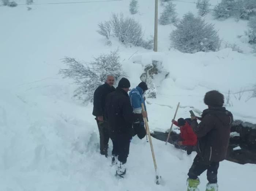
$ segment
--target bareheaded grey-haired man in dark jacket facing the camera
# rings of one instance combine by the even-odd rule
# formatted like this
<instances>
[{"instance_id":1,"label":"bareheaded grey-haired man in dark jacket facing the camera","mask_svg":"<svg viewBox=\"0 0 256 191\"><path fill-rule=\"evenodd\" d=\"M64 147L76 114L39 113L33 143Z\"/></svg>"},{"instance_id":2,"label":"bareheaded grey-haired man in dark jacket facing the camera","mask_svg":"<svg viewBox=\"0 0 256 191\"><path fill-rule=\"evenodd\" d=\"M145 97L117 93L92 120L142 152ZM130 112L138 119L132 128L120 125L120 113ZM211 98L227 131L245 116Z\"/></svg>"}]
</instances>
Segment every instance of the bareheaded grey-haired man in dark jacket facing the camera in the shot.
<instances>
[{"instance_id":1,"label":"bareheaded grey-haired man in dark jacket facing the camera","mask_svg":"<svg viewBox=\"0 0 256 191\"><path fill-rule=\"evenodd\" d=\"M94 91L94 99L93 99L93 115L96 117L98 129L99 129L99 149L101 155L108 156L108 143L109 143L109 129L108 129L108 121L106 120L105 114L105 102L106 96L115 90L113 87L114 77L112 75L108 75L106 78L106 82L99 86Z\"/></svg>"}]
</instances>

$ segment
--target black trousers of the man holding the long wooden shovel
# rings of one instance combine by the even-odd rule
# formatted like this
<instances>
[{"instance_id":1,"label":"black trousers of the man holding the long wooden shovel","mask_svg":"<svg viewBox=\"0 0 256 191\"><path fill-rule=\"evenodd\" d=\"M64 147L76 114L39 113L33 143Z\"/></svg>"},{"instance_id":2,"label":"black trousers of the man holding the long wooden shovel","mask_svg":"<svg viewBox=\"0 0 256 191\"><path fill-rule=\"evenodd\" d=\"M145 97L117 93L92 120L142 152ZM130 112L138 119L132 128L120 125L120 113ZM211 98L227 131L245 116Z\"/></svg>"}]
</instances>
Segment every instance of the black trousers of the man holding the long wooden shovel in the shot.
<instances>
[{"instance_id":1,"label":"black trousers of the man holding the long wooden shovel","mask_svg":"<svg viewBox=\"0 0 256 191\"><path fill-rule=\"evenodd\" d=\"M125 164L129 155L131 137L127 135L113 135L111 140L113 142L112 155L118 156L118 160Z\"/></svg>"}]
</instances>

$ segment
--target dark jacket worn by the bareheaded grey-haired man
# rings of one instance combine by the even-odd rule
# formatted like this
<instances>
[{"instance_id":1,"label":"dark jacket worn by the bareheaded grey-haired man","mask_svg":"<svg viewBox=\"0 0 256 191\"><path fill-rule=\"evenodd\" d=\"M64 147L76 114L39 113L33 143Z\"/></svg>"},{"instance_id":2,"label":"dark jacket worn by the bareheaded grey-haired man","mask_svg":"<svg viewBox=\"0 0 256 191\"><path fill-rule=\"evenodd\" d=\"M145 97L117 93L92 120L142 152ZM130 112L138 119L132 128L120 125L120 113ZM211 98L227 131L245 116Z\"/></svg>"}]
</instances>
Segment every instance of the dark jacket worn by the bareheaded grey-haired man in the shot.
<instances>
[{"instance_id":1,"label":"dark jacket worn by the bareheaded grey-haired man","mask_svg":"<svg viewBox=\"0 0 256 191\"><path fill-rule=\"evenodd\" d=\"M104 83L97 87L94 91L94 98L93 98L93 115L104 116L105 114L105 102L107 95L114 91L115 88L113 86L108 85L108 83Z\"/></svg>"}]
</instances>

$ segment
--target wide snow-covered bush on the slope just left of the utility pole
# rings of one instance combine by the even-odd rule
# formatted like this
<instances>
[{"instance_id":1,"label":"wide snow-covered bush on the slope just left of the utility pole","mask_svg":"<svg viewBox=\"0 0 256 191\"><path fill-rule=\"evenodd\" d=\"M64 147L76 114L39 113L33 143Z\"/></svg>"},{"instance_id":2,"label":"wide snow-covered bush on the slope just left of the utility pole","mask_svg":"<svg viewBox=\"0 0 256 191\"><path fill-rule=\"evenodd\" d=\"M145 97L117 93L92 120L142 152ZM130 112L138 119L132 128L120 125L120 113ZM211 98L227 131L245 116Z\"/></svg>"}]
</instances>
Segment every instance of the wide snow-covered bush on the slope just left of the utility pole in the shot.
<instances>
[{"instance_id":1,"label":"wide snow-covered bush on the slope just left of the utility pole","mask_svg":"<svg viewBox=\"0 0 256 191\"><path fill-rule=\"evenodd\" d=\"M110 21L99 23L99 34L109 39L109 36L114 36L124 44L132 44L141 46L146 49L153 48L153 40L143 40L143 31L139 22L133 18L124 18L123 13L112 14Z\"/></svg>"}]
</instances>

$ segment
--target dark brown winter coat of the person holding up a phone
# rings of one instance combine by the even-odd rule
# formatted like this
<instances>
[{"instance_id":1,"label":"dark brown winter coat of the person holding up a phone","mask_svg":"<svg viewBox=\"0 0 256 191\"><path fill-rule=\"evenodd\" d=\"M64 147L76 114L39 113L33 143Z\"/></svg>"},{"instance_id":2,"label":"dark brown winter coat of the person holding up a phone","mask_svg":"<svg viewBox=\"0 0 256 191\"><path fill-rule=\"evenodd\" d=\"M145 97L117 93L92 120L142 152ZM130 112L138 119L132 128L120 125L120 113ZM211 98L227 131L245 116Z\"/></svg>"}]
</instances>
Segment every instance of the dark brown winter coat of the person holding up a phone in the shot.
<instances>
[{"instance_id":1,"label":"dark brown winter coat of the person holding up a phone","mask_svg":"<svg viewBox=\"0 0 256 191\"><path fill-rule=\"evenodd\" d=\"M202 121L191 123L192 129L197 135L196 152L207 163L218 162L226 158L229 146L229 137L233 115L224 107L203 111Z\"/></svg>"}]
</instances>

